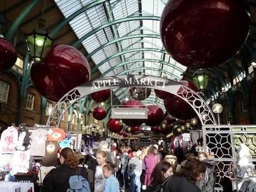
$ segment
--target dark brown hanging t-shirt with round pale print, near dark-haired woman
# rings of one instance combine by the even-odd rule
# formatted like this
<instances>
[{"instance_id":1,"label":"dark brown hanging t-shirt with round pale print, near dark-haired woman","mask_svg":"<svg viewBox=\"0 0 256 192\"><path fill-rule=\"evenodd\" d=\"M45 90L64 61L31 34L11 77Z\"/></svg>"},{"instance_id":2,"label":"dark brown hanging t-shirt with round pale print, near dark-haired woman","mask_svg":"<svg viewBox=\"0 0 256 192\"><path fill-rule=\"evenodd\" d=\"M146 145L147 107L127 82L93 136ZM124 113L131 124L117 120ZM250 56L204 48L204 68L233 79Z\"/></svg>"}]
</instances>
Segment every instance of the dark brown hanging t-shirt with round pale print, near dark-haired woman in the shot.
<instances>
[{"instance_id":1,"label":"dark brown hanging t-shirt with round pale print, near dark-haired woman","mask_svg":"<svg viewBox=\"0 0 256 192\"><path fill-rule=\"evenodd\" d=\"M58 141L47 141L45 146L45 156L42 158L42 166L57 166L57 154L60 150Z\"/></svg>"}]
</instances>

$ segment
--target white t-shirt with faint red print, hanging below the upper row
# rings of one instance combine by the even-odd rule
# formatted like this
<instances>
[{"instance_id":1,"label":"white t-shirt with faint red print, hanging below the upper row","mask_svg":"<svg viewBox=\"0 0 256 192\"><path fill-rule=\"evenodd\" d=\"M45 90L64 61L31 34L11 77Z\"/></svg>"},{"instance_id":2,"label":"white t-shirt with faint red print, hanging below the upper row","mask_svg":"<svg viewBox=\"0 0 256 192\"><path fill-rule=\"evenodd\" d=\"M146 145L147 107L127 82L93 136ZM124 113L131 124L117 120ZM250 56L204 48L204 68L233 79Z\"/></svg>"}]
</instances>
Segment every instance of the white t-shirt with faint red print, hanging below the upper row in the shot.
<instances>
[{"instance_id":1,"label":"white t-shirt with faint red print, hanging below the upper row","mask_svg":"<svg viewBox=\"0 0 256 192\"><path fill-rule=\"evenodd\" d=\"M30 151L15 151L13 156L13 170L16 173L27 173L29 169ZM18 161L15 161L18 159Z\"/></svg>"}]
</instances>

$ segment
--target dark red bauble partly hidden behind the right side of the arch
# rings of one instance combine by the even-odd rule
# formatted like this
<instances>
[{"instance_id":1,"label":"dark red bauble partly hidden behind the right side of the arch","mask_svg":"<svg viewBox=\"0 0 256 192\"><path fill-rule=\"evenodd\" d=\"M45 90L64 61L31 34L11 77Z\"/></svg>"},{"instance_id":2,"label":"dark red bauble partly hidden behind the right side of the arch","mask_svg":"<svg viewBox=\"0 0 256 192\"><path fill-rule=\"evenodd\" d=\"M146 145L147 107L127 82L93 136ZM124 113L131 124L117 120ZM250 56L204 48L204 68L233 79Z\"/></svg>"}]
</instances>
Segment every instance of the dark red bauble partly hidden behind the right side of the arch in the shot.
<instances>
[{"instance_id":1,"label":"dark red bauble partly hidden behind the right side of the arch","mask_svg":"<svg viewBox=\"0 0 256 192\"><path fill-rule=\"evenodd\" d=\"M179 81L179 83L191 88L194 91L198 91L192 82ZM180 87L178 94L190 97L192 94L186 87ZM178 119L191 119L196 116L194 109L186 101L178 96L170 97L170 99L164 100L164 105L168 113Z\"/></svg>"}]
</instances>

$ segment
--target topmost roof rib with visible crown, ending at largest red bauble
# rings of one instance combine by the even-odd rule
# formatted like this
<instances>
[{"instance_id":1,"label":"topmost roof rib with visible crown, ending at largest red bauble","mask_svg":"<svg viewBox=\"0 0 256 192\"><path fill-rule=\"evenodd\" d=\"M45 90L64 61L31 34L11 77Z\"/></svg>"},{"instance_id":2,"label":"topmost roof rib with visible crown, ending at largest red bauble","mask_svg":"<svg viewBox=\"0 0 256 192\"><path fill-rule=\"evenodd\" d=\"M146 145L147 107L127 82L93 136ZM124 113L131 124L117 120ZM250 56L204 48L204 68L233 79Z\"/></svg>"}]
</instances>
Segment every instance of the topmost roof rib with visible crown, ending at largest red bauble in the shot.
<instances>
[{"instance_id":1,"label":"topmost roof rib with visible crown, ending at largest red bauble","mask_svg":"<svg viewBox=\"0 0 256 192\"><path fill-rule=\"evenodd\" d=\"M137 16L137 17L126 17L126 18L116 19L115 21L107 22L105 24L102 24L102 26L96 27L92 31L86 33L86 35L79 38L79 40L74 41L71 46L77 47L81 42L85 41L87 37L90 37L91 35L100 31L101 29L112 26L113 24L122 23L122 22L126 22L126 21L136 21L136 20L156 20L156 21L160 21L160 18L161 17L156 17L156 16Z\"/></svg>"}]
</instances>

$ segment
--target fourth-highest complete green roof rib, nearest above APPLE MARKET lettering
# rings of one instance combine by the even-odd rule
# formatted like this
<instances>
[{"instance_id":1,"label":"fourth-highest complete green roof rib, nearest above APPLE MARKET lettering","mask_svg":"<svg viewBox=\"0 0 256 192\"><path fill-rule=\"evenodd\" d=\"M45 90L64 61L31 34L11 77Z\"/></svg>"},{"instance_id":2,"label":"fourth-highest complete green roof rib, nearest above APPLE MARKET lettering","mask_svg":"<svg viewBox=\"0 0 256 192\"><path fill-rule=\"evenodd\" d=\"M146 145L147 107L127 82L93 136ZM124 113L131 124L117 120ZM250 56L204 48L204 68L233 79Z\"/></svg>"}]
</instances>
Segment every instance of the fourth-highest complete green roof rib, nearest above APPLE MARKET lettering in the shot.
<instances>
[{"instance_id":1,"label":"fourth-highest complete green roof rib, nearest above APPLE MARKET lettering","mask_svg":"<svg viewBox=\"0 0 256 192\"><path fill-rule=\"evenodd\" d=\"M128 63L132 63L132 62L135 63L135 62L140 62L140 61L149 61L149 62L161 63L161 64L163 64L163 65L167 65L167 66L169 66L169 67L173 67L173 68L175 68L175 70L178 70L178 71L180 71L181 73L184 73L184 72L185 72L185 71L181 70L181 68L179 68L179 67L177 67L177 66L175 66L175 65L173 65L173 64L171 64L171 63L165 62L165 61L153 60L153 59L149 59L149 58L142 58L142 59L130 60L130 61L125 61L125 62L123 62L123 63L119 63L119 64L115 65L114 67L111 67L111 68L110 68L109 70L107 70L106 72L104 72L104 75L107 75L107 73L109 73L109 72L115 70L115 68L117 68L117 67L121 67L121 66L126 65L126 64L128 64Z\"/></svg>"}]
</instances>

